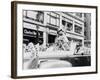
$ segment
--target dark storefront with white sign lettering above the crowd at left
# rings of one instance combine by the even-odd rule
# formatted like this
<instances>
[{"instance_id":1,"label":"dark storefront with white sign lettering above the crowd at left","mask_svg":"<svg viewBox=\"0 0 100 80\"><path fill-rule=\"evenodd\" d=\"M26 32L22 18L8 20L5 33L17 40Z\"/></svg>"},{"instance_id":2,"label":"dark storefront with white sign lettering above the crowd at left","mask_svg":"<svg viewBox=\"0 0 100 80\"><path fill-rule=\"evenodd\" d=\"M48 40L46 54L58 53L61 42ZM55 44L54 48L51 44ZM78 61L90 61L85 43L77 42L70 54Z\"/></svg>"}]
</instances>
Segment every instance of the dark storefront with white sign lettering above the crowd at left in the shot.
<instances>
[{"instance_id":1,"label":"dark storefront with white sign lettering above the crowd at left","mask_svg":"<svg viewBox=\"0 0 100 80\"><path fill-rule=\"evenodd\" d=\"M28 44L32 42L34 45L43 44L43 32L33 29L23 28L23 43Z\"/></svg>"}]
</instances>

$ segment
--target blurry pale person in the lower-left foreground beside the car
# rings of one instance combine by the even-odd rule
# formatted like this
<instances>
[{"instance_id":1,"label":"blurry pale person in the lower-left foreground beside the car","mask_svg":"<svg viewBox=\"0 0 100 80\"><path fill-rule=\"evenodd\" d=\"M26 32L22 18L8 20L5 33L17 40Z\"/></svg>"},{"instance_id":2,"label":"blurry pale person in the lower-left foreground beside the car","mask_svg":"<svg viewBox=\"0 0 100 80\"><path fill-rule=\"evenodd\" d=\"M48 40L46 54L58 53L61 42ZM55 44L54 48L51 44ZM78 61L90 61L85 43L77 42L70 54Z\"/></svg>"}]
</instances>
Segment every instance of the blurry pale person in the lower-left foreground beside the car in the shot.
<instances>
[{"instance_id":1,"label":"blurry pale person in the lower-left foreground beside the car","mask_svg":"<svg viewBox=\"0 0 100 80\"><path fill-rule=\"evenodd\" d=\"M24 69L34 69L38 67L38 55L35 45L30 42L24 52Z\"/></svg>"}]
</instances>

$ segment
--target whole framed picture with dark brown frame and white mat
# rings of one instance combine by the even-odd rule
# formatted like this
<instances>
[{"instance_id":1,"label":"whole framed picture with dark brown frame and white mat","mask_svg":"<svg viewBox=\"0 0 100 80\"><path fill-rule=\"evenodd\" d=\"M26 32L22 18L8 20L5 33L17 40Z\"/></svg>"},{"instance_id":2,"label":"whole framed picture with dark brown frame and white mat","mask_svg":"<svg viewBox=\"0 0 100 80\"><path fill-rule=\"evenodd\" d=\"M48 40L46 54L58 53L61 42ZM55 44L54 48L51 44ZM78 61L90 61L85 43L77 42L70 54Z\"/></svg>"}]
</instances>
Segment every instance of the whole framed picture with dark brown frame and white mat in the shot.
<instances>
[{"instance_id":1,"label":"whole framed picture with dark brown frame and white mat","mask_svg":"<svg viewBox=\"0 0 100 80\"><path fill-rule=\"evenodd\" d=\"M12 3L12 76L97 73L97 7Z\"/></svg>"}]
</instances>

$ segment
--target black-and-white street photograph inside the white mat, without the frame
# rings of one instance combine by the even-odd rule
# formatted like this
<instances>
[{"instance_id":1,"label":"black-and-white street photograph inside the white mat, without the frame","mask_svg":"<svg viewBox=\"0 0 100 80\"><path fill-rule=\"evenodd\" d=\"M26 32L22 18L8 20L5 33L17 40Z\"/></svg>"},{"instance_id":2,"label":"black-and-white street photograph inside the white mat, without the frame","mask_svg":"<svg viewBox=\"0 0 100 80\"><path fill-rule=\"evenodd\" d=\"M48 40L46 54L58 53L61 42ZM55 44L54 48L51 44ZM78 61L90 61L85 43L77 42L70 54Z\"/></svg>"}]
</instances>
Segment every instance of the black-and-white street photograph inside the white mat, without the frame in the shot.
<instances>
[{"instance_id":1,"label":"black-and-white street photograph inside the white mat, without the frame","mask_svg":"<svg viewBox=\"0 0 100 80\"><path fill-rule=\"evenodd\" d=\"M23 69L91 66L91 13L23 10Z\"/></svg>"}]
</instances>

